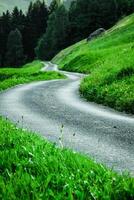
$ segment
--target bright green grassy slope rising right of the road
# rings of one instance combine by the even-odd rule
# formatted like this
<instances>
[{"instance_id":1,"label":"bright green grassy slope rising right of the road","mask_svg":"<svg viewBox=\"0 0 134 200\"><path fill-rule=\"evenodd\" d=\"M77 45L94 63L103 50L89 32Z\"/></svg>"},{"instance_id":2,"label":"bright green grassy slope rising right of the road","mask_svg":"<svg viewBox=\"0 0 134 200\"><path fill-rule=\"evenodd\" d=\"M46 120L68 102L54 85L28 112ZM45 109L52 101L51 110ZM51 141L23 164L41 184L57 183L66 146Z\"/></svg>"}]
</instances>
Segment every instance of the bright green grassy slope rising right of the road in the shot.
<instances>
[{"instance_id":1,"label":"bright green grassy slope rising right of the road","mask_svg":"<svg viewBox=\"0 0 134 200\"><path fill-rule=\"evenodd\" d=\"M80 85L89 101L134 114L134 15L103 37L61 51L53 62L63 70L90 74Z\"/></svg>"}]
</instances>

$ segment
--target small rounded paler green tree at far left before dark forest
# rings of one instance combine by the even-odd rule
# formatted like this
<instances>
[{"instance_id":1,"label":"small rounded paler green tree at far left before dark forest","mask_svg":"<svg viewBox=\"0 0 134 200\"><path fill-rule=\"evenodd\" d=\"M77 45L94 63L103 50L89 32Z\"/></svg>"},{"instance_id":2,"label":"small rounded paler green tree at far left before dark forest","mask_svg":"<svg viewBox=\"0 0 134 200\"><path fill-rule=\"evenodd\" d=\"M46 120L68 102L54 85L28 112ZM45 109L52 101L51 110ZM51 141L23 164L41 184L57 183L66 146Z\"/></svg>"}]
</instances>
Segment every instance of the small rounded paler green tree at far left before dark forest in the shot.
<instances>
[{"instance_id":1,"label":"small rounded paler green tree at far left before dark forest","mask_svg":"<svg viewBox=\"0 0 134 200\"><path fill-rule=\"evenodd\" d=\"M11 31L7 41L6 65L21 66L24 63L22 35L18 29Z\"/></svg>"}]
</instances>

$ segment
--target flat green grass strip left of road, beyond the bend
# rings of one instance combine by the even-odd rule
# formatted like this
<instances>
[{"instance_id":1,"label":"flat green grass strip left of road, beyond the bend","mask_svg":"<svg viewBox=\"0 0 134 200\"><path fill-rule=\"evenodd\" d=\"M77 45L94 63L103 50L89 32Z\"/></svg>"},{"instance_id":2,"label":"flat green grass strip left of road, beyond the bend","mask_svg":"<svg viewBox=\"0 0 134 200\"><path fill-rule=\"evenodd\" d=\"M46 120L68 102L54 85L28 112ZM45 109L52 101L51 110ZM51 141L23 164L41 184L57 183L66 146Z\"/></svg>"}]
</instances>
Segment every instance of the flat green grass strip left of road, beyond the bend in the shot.
<instances>
[{"instance_id":1,"label":"flat green grass strip left of road, beyond the bend","mask_svg":"<svg viewBox=\"0 0 134 200\"><path fill-rule=\"evenodd\" d=\"M64 76L58 72L41 72L44 64L40 61L24 65L22 68L3 68L0 69L0 91L9 87L29 83L32 81L43 81L51 79L60 79Z\"/></svg>"}]
</instances>

